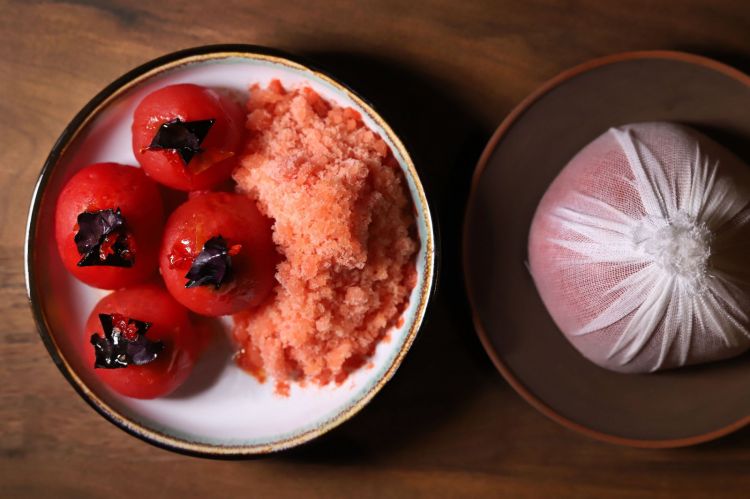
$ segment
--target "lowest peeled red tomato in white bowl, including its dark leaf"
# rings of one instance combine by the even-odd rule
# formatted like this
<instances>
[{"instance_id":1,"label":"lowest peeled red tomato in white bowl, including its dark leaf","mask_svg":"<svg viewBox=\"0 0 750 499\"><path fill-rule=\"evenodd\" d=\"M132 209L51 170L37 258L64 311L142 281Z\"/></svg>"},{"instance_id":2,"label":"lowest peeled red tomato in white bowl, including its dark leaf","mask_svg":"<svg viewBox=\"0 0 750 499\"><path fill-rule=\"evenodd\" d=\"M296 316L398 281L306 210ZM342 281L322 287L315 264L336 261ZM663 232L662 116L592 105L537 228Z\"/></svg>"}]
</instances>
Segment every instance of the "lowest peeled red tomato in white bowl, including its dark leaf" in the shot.
<instances>
[{"instance_id":1,"label":"lowest peeled red tomato in white bowl, including its dark leaf","mask_svg":"<svg viewBox=\"0 0 750 499\"><path fill-rule=\"evenodd\" d=\"M139 399L174 391L205 345L188 311L160 284L105 296L84 333L86 365L117 393Z\"/></svg>"}]
</instances>

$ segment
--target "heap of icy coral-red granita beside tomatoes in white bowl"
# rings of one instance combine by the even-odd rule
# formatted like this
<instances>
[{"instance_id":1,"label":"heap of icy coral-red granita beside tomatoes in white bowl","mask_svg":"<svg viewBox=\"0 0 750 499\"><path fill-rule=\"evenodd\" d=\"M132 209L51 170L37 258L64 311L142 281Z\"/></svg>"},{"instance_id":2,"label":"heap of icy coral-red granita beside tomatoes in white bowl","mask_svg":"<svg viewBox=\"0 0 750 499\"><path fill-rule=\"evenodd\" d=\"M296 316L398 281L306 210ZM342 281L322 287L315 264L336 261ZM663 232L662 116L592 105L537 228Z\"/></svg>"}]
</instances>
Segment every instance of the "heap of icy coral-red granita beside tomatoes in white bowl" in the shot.
<instances>
[{"instance_id":1,"label":"heap of icy coral-red granita beside tomatoes in white bowl","mask_svg":"<svg viewBox=\"0 0 750 499\"><path fill-rule=\"evenodd\" d=\"M353 109L278 81L250 89L238 188L274 220L273 296L235 316L238 362L259 379L341 383L394 326L416 283L418 239L388 145Z\"/></svg>"}]
</instances>

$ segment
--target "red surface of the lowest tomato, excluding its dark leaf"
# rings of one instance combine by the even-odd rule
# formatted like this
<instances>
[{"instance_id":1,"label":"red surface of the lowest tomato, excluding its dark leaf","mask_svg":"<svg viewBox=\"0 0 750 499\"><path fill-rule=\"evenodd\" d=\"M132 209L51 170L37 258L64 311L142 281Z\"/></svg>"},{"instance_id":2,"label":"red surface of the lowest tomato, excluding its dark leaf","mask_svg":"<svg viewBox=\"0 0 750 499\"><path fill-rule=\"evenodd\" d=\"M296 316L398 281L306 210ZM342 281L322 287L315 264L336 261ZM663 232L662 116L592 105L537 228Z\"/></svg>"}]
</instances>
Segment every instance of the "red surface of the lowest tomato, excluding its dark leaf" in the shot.
<instances>
[{"instance_id":1,"label":"red surface of the lowest tomato, excluding its dark leaf","mask_svg":"<svg viewBox=\"0 0 750 499\"><path fill-rule=\"evenodd\" d=\"M146 338L164 343L164 350L148 364L120 369L94 368L91 335L104 336L99 314L121 314L150 322ZM126 397L153 399L168 395L188 377L205 341L193 327L188 311L160 284L143 284L115 291L96 304L86 322L82 344L86 366L110 388Z\"/></svg>"}]
</instances>

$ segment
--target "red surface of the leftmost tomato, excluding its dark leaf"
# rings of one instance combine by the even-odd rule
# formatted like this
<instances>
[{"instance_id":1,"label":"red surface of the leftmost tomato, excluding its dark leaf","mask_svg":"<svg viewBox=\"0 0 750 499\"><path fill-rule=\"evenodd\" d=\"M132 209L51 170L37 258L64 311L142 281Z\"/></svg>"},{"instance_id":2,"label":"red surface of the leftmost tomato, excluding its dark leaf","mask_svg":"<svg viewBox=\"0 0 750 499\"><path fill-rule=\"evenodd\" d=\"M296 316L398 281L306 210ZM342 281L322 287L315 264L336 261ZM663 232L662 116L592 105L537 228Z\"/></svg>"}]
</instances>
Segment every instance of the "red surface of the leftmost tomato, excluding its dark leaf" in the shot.
<instances>
[{"instance_id":1,"label":"red surface of the leftmost tomato, excluding its dark leaf","mask_svg":"<svg viewBox=\"0 0 750 499\"><path fill-rule=\"evenodd\" d=\"M78 215L117 208L131 238L133 265L79 267L82 255L74 239ZM158 265L163 226L164 208L157 185L134 166L117 163L86 166L65 184L57 200L55 237L63 264L76 278L96 288L116 289L152 277Z\"/></svg>"}]
</instances>

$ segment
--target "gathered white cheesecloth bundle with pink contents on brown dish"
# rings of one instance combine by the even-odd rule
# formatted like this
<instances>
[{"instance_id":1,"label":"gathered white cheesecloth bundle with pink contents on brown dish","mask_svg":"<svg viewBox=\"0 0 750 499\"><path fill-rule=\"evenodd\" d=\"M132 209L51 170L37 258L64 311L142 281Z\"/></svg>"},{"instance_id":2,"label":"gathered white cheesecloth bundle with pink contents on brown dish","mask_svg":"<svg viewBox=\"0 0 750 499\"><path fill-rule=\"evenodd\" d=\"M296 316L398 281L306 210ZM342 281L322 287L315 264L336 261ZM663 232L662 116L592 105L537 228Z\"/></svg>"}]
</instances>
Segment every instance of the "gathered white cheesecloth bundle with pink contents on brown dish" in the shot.
<instances>
[{"instance_id":1,"label":"gathered white cheesecloth bundle with pink contents on brown dish","mask_svg":"<svg viewBox=\"0 0 750 499\"><path fill-rule=\"evenodd\" d=\"M621 372L750 348L750 168L692 129L611 128L545 193L537 290L585 357Z\"/></svg>"}]
</instances>

